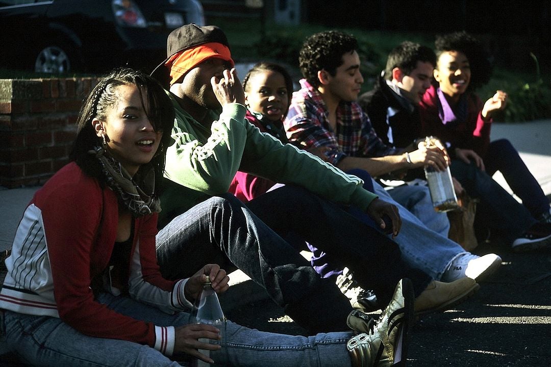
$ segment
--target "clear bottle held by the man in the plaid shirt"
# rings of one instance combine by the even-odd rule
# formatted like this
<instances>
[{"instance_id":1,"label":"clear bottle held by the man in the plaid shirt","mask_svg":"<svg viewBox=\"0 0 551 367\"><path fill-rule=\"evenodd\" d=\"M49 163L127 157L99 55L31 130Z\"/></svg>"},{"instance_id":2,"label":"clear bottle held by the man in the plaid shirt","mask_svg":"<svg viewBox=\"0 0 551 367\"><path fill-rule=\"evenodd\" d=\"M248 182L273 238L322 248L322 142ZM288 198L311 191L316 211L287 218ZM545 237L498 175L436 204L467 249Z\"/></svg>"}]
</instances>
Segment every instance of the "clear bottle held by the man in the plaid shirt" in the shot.
<instances>
[{"instance_id":1,"label":"clear bottle held by the man in the plaid shirt","mask_svg":"<svg viewBox=\"0 0 551 367\"><path fill-rule=\"evenodd\" d=\"M427 136L425 143L428 148L440 145L438 139L434 136ZM460 205L453 189L450 166L446 167L444 171L436 171L432 166L425 166L425 177L429 185L434 210L446 212L459 209Z\"/></svg>"}]
</instances>

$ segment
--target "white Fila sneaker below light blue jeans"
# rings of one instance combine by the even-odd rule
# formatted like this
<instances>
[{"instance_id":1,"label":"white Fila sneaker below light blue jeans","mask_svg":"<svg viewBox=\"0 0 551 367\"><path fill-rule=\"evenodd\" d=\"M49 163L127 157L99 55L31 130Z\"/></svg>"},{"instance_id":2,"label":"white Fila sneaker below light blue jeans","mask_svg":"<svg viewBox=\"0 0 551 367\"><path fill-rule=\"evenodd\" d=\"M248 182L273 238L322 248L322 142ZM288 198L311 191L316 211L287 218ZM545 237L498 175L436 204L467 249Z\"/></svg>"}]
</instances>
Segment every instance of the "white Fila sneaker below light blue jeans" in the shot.
<instances>
[{"instance_id":1,"label":"white Fila sneaker below light blue jeans","mask_svg":"<svg viewBox=\"0 0 551 367\"><path fill-rule=\"evenodd\" d=\"M479 282L496 271L500 265L501 258L496 254L477 256L467 253L453 260L440 280L453 282L463 277L469 277Z\"/></svg>"}]
</instances>

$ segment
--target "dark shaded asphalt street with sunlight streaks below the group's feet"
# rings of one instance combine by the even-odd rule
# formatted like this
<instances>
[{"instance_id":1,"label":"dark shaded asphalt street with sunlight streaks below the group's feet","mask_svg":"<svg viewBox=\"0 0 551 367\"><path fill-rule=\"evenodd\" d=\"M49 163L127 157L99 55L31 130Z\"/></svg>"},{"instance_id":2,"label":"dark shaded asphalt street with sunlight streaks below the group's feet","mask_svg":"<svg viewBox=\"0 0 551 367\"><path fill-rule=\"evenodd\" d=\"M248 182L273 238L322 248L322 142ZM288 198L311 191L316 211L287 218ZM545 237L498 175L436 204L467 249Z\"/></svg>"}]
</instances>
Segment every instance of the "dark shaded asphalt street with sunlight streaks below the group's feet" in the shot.
<instances>
[{"instance_id":1,"label":"dark shaded asphalt street with sunlight streaks below the group's feet","mask_svg":"<svg viewBox=\"0 0 551 367\"><path fill-rule=\"evenodd\" d=\"M408 366L551 365L551 251L514 254L484 245L474 252L498 252L504 263L473 298L417 320ZM247 304L227 316L263 331L305 333L271 300Z\"/></svg>"}]
</instances>

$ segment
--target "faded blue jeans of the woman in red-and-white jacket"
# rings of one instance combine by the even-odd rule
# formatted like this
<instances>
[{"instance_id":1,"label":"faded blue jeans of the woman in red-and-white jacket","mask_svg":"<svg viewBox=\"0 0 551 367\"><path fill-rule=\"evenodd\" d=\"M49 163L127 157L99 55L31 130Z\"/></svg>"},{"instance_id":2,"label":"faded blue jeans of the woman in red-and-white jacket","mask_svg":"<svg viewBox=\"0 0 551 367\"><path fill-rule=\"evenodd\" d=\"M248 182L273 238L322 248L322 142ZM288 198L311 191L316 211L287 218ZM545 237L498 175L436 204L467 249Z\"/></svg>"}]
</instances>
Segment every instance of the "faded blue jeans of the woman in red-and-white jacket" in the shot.
<instances>
[{"instance_id":1,"label":"faded blue jeans of the woman in red-and-white jacket","mask_svg":"<svg viewBox=\"0 0 551 367\"><path fill-rule=\"evenodd\" d=\"M127 297L100 293L98 302L158 326L181 326L186 313L169 315ZM25 363L43 366L180 366L154 348L129 341L83 335L61 319L6 311L7 341ZM226 345L210 353L215 365L350 366L346 342L352 333L291 336L261 332L228 321ZM211 341L219 343L218 341ZM185 357L175 356L175 358ZM227 359L227 360L225 360Z\"/></svg>"}]
</instances>

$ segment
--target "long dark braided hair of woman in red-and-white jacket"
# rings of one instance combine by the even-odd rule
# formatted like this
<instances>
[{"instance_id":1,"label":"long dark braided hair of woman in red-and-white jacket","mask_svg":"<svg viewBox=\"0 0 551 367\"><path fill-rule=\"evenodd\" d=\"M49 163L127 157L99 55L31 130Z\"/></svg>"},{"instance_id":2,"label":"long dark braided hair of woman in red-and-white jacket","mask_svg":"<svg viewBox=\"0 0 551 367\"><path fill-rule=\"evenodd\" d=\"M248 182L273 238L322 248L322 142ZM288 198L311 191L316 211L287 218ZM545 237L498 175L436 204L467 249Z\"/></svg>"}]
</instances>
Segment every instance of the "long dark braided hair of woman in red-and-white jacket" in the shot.
<instances>
[{"instance_id":1,"label":"long dark braided hair of woman in red-and-white jacket","mask_svg":"<svg viewBox=\"0 0 551 367\"><path fill-rule=\"evenodd\" d=\"M69 158L75 161L82 170L91 177L102 182L101 166L98 160L89 154L94 147L102 145L102 139L96 135L92 120L98 118L105 121L109 109L118 101L117 87L121 85L136 85L142 100L142 107L155 131L163 131L159 149L148 165L142 165L136 177L140 176L144 166L155 170L155 187L160 187L165 167L165 152L172 143L170 133L174 125L175 111L170 98L163 87L151 76L129 68L119 68L101 78L90 91L80 108L77 119L78 132ZM148 109L145 109L144 100Z\"/></svg>"}]
</instances>

